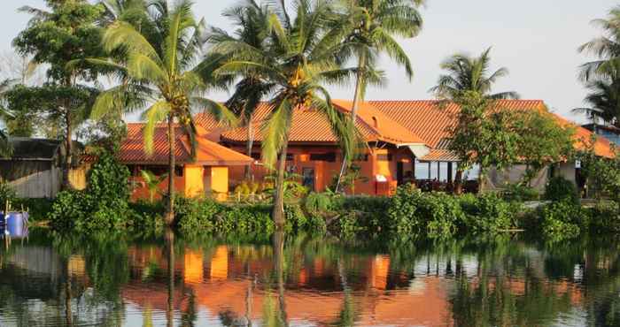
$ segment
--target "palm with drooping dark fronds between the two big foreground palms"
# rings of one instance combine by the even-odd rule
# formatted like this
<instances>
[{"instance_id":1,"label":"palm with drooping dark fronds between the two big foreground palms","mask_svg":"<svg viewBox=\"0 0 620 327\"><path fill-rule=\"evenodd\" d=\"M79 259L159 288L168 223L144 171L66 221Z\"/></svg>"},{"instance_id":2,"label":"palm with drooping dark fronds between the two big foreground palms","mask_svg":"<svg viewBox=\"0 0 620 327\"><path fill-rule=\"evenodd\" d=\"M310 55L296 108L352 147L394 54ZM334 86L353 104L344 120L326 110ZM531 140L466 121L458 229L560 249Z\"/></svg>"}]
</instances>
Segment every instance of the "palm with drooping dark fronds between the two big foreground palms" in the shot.
<instances>
[{"instance_id":1,"label":"palm with drooping dark fronds between the two big foreground palms","mask_svg":"<svg viewBox=\"0 0 620 327\"><path fill-rule=\"evenodd\" d=\"M269 36L268 16L265 8L261 8L254 0L246 0L244 4L237 5L225 11L224 17L234 22L236 31L230 35L220 28L213 28L209 41L215 45L222 42L242 42L254 49L265 51ZM260 102L274 89L275 84L260 79L260 76L243 73L241 80L236 83L235 92L226 102L226 106L235 112L239 122L247 128L247 155L252 156L254 129L252 118ZM245 179L251 179L251 166L245 167Z\"/></svg>"}]
</instances>

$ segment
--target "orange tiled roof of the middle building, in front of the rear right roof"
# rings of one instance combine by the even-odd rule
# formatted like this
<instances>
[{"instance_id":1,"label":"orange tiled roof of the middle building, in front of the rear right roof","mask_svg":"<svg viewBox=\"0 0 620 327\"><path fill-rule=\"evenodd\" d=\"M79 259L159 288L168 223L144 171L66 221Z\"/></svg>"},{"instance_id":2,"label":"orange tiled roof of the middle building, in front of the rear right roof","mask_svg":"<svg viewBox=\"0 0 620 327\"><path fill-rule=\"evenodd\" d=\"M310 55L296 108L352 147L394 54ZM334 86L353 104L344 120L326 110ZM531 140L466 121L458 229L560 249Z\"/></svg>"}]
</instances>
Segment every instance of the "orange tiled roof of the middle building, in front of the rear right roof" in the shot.
<instances>
[{"instance_id":1,"label":"orange tiled roof of the middle building, in front of the rear right roof","mask_svg":"<svg viewBox=\"0 0 620 327\"><path fill-rule=\"evenodd\" d=\"M334 102L340 110L348 111L350 103L343 101ZM268 103L261 103L252 119L254 141L262 141L263 133L261 127L269 115L270 107ZM201 114L197 119L204 125L213 125L213 118L208 118ZM424 144L421 138L411 133L407 128L395 123L391 118L386 117L380 111L375 110L368 104L360 106L355 125L366 141L386 141L393 144ZM238 127L221 134L221 138L226 141L246 141L247 127ZM329 127L329 121L320 112L307 108L300 108L293 111L291 124L291 142L336 142L336 135Z\"/></svg>"}]
</instances>

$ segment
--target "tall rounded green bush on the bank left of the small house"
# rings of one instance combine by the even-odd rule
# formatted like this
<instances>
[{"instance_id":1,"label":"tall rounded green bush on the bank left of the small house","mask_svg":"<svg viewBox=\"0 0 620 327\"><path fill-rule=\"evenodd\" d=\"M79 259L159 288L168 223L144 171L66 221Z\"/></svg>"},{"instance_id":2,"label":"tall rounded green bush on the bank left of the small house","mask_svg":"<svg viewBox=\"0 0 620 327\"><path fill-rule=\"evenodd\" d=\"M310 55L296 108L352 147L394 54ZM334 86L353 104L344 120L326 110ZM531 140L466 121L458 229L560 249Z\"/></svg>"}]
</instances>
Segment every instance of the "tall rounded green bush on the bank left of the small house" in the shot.
<instances>
[{"instance_id":1,"label":"tall rounded green bush on the bank left of the small house","mask_svg":"<svg viewBox=\"0 0 620 327\"><path fill-rule=\"evenodd\" d=\"M58 194L50 212L52 226L58 231L92 232L128 224L132 214L128 206L128 178L125 165L114 156L103 154L89 172L85 190Z\"/></svg>"}]
</instances>

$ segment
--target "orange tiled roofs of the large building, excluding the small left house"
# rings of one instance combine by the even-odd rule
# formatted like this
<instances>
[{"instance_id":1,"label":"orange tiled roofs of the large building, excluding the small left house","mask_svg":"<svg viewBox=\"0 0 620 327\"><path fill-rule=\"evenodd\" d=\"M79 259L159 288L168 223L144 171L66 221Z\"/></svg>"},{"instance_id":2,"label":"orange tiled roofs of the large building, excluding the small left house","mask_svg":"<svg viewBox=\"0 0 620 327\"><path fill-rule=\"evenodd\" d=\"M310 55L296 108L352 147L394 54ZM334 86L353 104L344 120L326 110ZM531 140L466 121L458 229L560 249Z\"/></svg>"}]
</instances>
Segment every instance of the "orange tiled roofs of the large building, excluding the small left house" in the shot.
<instances>
[{"instance_id":1,"label":"orange tiled roofs of the large building, excluding the small left house","mask_svg":"<svg viewBox=\"0 0 620 327\"><path fill-rule=\"evenodd\" d=\"M348 111L351 107L349 101L334 100L333 103L340 110ZM542 100L501 100L497 106L509 110L546 110ZM459 110L459 106L455 103L439 105L436 100L368 101L360 105L356 126L367 141L426 144L431 149L442 149L442 151L431 152L424 159L440 157L441 160L451 161L453 154L446 152L446 140L450 138L448 131L456 124ZM260 126L269 112L268 104L261 103L254 115L253 126L256 141L262 140ZM560 124L575 127L575 148L584 149L588 146L592 132L565 118L553 115ZM375 118L377 124L375 124ZM207 130L218 126L218 123L206 114L198 114L197 121ZM227 141L246 141L247 129L235 128L222 133L221 137ZM335 142L337 140L331 133L327 120L318 112L296 110L291 125L290 141ZM599 156L614 156L613 146L603 137L597 138L594 148Z\"/></svg>"}]
</instances>

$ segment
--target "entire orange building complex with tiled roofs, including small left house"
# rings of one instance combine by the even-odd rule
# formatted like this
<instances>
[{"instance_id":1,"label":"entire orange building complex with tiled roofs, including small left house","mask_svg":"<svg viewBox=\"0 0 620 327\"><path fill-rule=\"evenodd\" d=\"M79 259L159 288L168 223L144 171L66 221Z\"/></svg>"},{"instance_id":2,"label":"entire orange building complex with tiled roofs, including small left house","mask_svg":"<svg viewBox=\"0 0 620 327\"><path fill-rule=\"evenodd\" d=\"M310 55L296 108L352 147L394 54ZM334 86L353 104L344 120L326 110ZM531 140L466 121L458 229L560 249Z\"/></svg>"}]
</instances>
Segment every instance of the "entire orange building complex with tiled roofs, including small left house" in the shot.
<instances>
[{"instance_id":1,"label":"entire orange building complex with tiled roofs, including small left house","mask_svg":"<svg viewBox=\"0 0 620 327\"><path fill-rule=\"evenodd\" d=\"M333 104L349 113L352 103L334 100ZM540 100L502 100L498 107L508 110L540 110L548 112ZM459 157L447 148L451 126L458 119L459 106L455 103L439 105L437 101L369 101L360 103L356 127L366 147L353 163L360 176L349 194L387 195L396 186L415 180L451 182L455 177ZM186 196L200 194L228 194L244 181L245 166L251 165L252 179L263 180L269 173L260 164L262 125L271 112L267 103L261 103L249 126L227 128L219 125L210 115L198 114L198 156L190 159L189 143L177 131L176 160L178 163L176 190ZM568 120L549 113L560 125L575 128L575 148L586 148L593 133ZM181 127L177 127L180 129ZM120 150L120 160L128 164L137 184L134 198L145 198L148 189L143 185L140 171L167 172L167 128L159 125L155 133L154 154L143 150L143 124L129 124L128 138ZM247 153L248 131L253 137L251 156ZM614 156L611 143L599 137L594 145L599 156ZM329 121L312 108L298 108L292 116L287 171L301 176L310 190L321 192L334 183L341 164L342 152ZM524 166L523 166L524 167ZM489 186L501 187L521 180L524 168L515 165L508 171L490 171ZM575 163L559 163L554 169L566 179L579 184L579 168ZM551 171L543 170L535 179L534 187L542 188ZM466 178L476 179L476 171L468 171ZM166 189L166 181L160 188Z\"/></svg>"}]
</instances>

